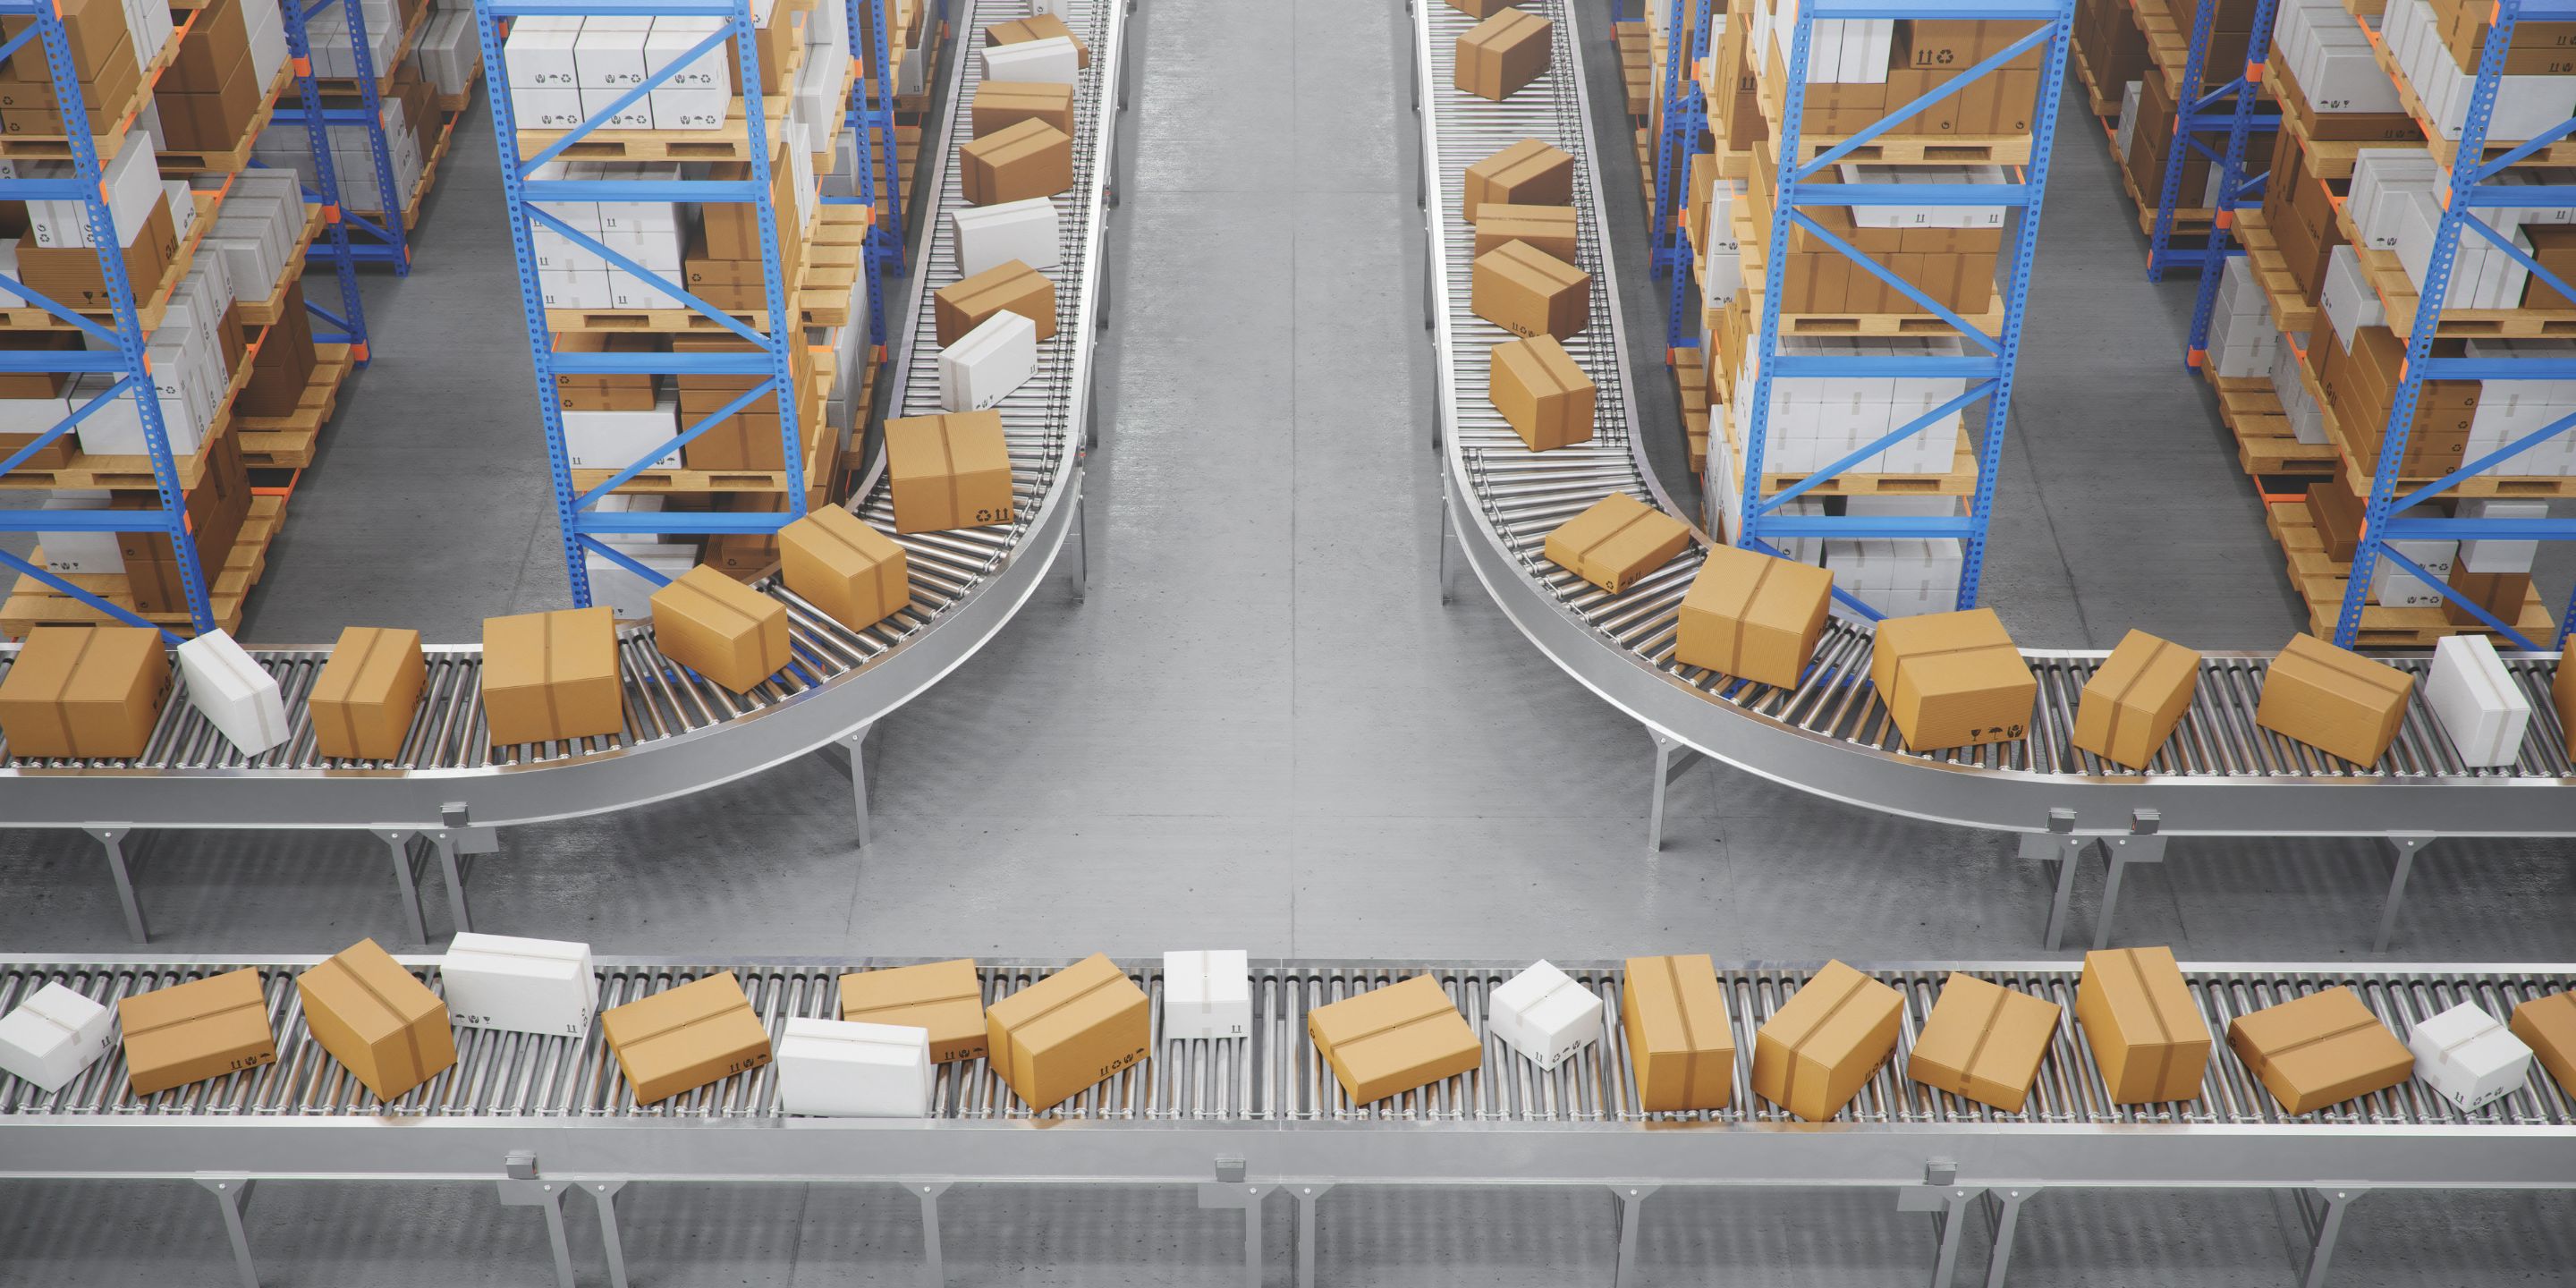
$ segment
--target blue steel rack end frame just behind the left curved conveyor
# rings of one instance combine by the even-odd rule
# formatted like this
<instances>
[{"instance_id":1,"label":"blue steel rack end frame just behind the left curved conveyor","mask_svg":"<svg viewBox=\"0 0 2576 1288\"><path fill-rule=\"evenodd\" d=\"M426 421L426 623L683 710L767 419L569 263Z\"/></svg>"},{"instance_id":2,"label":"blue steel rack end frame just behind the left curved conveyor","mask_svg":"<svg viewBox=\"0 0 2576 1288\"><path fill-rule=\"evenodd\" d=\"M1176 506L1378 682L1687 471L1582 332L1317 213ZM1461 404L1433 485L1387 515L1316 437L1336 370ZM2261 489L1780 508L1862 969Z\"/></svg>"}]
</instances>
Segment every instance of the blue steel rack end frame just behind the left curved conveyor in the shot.
<instances>
[{"instance_id":1,"label":"blue steel rack end frame just behind the left curved conveyor","mask_svg":"<svg viewBox=\"0 0 2576 1288\"><path fill-rule=\"evenodd\" d=\"M510 106L510 72L502 52L500 21L502 18L528 18L528 15L652 15L652 18L716 18L721 26L675 57L657 72L649 72L639 85L621 93L613 103L600 108L595 116L554 139L533 157L520 157L518 152L518 118ZM804 343L804 330L796 327L796 307L788 299L786 268L778 252L778 216L781 211L770 201L770 134L768 118L760 111L760 52L755 46L757 36L752 28L750 0L477 0L474 26L482 39L484 70L492 85L492 134L500 147L500 180L502 196L510 206L510 250L518 255L518 294L520 309L528 317L528 348L536 358L536 402L546 425L546 461L554 474L554 515L564 536L564 574L572 582L572 603L590 605L590 569L587 554L600 554L618 567L644 577L647 582L662 585L667 577L652 572L649 567L629 559L616 546L600 541L611 533L775 533L778 528L804 518L806 513L806 482L804 482L804 448L799 438L799 399L796 381L788 371L793 345ZM644 100L647 93L665 85L677 70L698 62L701 57L734 44L734 67L739 75L742 100L752 106L744 113L750 129L750 167L747 180L562 180L562 178L533 178L541 165L559 157L572 144L587 139L595 129L611 121L616 113ZM729 312L698 299L683 283L670 281L616 250L608 250L595 237L577 232L554 214L538 209L538 201L698 201L698 204L750 204L757 211L760 224L760 278L762 301L768 304L768 330L755 330L742 325ZM793 211L788 211L793 214ZM567 237L572 245L590 255L598 255L621 273L631 273L644 283L680 299L688 309L703 314L719 327L747 340L752 350L744 353L554 353L554 330L546 325L546 301L538 289L536 276L536 247L533 229L544 224L556 234ZM556 399L556 376L652 376L652 374L696 374L696 376L760 376L752 386L719 407L716 412L701 417L696 425L680 430L675 438L649 448L634 464L613 471L598 487L577 489L572 484L572 453L564 446L564 404ZM652 469L662 456L685 448L706 430L729 420L734 412L752 407L762 397L770 397L778 407L778 435L781 453L786 461L786 513L600 513L595 510L603 497L623 487L636 474Z\"/></svg>"}]
</instances>

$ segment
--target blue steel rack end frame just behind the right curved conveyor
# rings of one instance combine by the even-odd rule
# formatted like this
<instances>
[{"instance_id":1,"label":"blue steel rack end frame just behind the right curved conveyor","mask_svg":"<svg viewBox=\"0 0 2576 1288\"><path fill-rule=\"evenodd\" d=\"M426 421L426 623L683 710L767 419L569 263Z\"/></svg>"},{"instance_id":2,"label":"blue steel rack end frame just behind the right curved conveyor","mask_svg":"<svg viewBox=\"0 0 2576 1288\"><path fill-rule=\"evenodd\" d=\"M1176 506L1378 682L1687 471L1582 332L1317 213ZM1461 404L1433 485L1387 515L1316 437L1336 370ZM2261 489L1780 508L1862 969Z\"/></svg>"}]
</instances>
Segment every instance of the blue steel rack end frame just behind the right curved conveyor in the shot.
<instances>
[{"instance_id":1,"label":"blue steel rack end frame just behind the right curved conveyor","mask_svg":"<svg viewBox=\"0 0 2576 1288\"><path fill-rule=\"evenodd\" d=\"M1808 49L1814 39L1816 21L1829 18L1986 18L1986 21L2027 21L2038 23L2027 36L2009 44L2004 52L1968 67L1965 72L1945 80L1932 93L1893 108L1880 121L1852 134L1850 139L1826 147L1811 162L1801 162L1801 124L1806 116L1806 67ZM1994 479L2004 453L2004 425L2012 410L2012 368L2022 348L2022 312L2030 301L2030 263L2038 252L2040 240L2040 193L2048 188L2048 155L2056 144L2058 126L2058 90L2066 80L2066 44L2074 31L2074 0L1806 0L1798 5L1798 21L1790 31L1790 57L1788 57L1788 85L1785 106L1777 121L1780 134L1780 193L1772 204L1770 224L1770 250L1762 263L1762 332L1754 350L1754 392L1752 407L1744 412L1744 523L1736 533L1736 546L1780 554L1775 536L1798 538L1960 538L1960 580L1958 580L1958 605L1976 608L1978 577L1986 564L1986 526L1994 513ZM1868 147L1873 139L1883 137L1901 121L1914 118L1914 113L1960 93L1978 77L1999 72L2012 59L2030 49L2048 46L2045 67L2040 70L2038 103L2030 118L2030 165L2020 183L1811 183L1819 173L1832 170L1842 157L1852 155L1857 147ZM2009 281L2004 281L2004 330L2002 335L1986 335L1976 330L1968 319L1945 309L1940 301L1927 296L1914 283L1899 278L1893 270L1862 255L1850 242L1834 237L1824 224L1808 219L1801 206L2007 206L2020 214L2012 234L2012 265ZM1806 232L1821 240L1832 250L1850 258L1857 268L1868 270L1873 278L1896 289L1914 304L1924 307L1942 322L1947 322L1960 340L1968 343L1968 355L1785 355L1780 353L1780 299L1788 286L1788 247L1790 232ZM1795 484L1762 495L1762 448L1770 438L1770 402L1772 381L1780 376L1824 376L1824 379L1965 379L1965 394L1899 425L1875 443L1798 479ZM1834 479L1837 474L1868 461L1870 456L1886 451L1888 446L1919 435L1937 420L1973 407L1978 399L1986 402L1986 433L1976 453L1976 497L1965 515L1940 518L1940 515L1783 515L1780 505L1798 500L1801 495L1816 489L1819 484ZM1868 603L1860 603L1847 590L1834 587L1834 598L1852 611L1878 618L1880 613Z\"/></svg>"}]
</instances>

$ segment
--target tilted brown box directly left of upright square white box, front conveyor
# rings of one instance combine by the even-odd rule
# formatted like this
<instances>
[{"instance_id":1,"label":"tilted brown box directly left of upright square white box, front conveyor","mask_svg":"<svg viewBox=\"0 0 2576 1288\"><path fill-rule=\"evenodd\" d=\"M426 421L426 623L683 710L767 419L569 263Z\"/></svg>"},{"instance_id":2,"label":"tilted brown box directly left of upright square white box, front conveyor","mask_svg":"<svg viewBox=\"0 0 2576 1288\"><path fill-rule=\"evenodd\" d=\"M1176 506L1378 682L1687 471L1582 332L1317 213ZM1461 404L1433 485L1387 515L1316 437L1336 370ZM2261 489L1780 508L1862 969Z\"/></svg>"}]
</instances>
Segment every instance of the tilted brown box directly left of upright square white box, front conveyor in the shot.
<instances>
[{"instance_id":1,"label":"tilted brown box directly left of upright square white box, front conveyor","mask_svg":"<svg viewBox=\"0 0 2576 1288\"><path fill-rule=\"evenodd\" d=\"M984 1007L992 1069L1041 1113L1144 1064L1151 1030L1154 1005L1100 953Z\"/></svg>"}]
</instances>

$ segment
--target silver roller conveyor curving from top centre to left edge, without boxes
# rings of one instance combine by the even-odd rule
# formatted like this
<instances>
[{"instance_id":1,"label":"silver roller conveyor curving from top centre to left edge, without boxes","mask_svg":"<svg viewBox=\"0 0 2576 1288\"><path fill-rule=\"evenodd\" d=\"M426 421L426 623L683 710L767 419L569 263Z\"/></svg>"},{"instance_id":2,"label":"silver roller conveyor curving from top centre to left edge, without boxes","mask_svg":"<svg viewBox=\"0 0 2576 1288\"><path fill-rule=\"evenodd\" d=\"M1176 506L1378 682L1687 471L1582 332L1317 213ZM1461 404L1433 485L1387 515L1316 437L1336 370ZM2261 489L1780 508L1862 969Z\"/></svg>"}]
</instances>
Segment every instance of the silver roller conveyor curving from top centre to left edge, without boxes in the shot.
<instances>
[{"instance_id":1,"label":"silver roller conveyor curving from top centre to left edge, without boxes","mask_svg":"<svg viewBox=\"0 0 2576 1288\"><path fill-rule=\"evenodd\" d=\"M935 147L927 232L912 265L912 309L894 363L896 415L938 402L938 343L930 291L956 281L945 211L963 206L956 144L971 139L969 108L979 77L981 23L1020 18L1015 0L966 0L953 15L956 93ZM1074 188L1059 198L1064 268L1056 278L1056 337L1038 353L1038 376L1002 404L1018 515L1010 526L899 536L912 567L912 605L866 631L845 629L762 582L788 605L796 667L734 696L654 649L652 629L621 631L626 732L554 744L492 747L482 716L482 649L428 649L428 696L399 760L348 762L314 755L304 696L327 649L258 649L286 693L294 737L245 757L173 693L152 747L139 760L15 760L0 742L0 822L15 827L435 827L451 806L477 827L626 809L701 791L842 734L866 729L938 683L992 639L1028 600L1079 523L1082 446L1090 433L1090 317L1100 299L1103 198L1110 183L1115 82L1126 10L1069 0L1066 23L1092 46L1077 88ZM853 502L894 531L884 453ZM399 623L389 623L399 626ZM0 644L0 675L15 662Z\"/></svg>"}]
</instances>

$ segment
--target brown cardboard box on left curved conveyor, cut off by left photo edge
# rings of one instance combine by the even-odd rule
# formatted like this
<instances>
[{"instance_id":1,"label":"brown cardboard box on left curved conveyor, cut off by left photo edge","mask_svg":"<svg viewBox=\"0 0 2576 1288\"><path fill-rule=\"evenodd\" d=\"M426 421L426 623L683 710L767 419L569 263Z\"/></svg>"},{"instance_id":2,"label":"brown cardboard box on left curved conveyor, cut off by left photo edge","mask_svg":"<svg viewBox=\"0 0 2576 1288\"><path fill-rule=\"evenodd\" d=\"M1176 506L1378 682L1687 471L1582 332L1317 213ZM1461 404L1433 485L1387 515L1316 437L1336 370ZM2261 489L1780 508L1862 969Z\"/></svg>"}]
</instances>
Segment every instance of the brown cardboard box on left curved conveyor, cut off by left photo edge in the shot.
<instances>
[{"instance_id":1,"label":"brown cardboard box on left curved conveyor, cut off by left photo edge","mask_svg":"<svg viewBox=\"0 0 2576 1288\"><path fill-rule=\"evenodd\" d=\"M2571 667L2576 670L2576 667ZM142 626L36 626L0 677L0 737L18 760L144 755L170 693L170 654Z\"/></svg>"}]
</instances>

